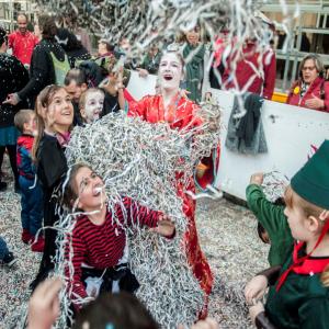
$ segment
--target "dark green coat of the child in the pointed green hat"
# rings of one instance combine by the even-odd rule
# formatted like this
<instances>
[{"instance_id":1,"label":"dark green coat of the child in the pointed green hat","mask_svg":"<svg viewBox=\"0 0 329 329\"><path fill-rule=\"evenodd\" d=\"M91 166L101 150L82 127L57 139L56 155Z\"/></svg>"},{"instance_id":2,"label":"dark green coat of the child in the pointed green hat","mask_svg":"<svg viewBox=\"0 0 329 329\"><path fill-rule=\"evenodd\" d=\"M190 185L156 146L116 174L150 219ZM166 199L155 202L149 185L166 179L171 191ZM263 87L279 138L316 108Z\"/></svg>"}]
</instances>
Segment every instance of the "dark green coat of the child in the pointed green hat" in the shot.
<instances>
[{"instance_id":1,"label":"dark green coat of the child in the pointed green hat","mask_svg":"<svg viewBox=\"0 0 329 329\"><path fill-rule=\"evenodd\" d=\"M281 274L291 263L292 257L285 262ZM275 286L270 288L265 314L276 328L329 328L329 287L322 285L319 274L291 272L279 292Z\"/></svg>"}]
</instances>

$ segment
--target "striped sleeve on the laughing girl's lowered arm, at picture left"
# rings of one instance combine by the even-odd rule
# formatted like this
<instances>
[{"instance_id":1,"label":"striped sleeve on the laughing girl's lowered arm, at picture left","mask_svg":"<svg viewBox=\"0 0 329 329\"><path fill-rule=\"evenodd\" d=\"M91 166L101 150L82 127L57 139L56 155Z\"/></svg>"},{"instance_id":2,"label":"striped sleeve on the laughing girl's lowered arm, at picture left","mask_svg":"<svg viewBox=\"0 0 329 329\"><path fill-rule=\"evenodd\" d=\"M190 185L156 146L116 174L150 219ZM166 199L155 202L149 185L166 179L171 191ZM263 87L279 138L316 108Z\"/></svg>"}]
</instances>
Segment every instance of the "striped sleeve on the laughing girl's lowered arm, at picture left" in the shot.
<instances>
[{"instance_id":1,"label":"striped sleeve on the laughing girl's lowered arm, at picture left","mask_svg":"<svg viewBox=\"0 0 329 329\"><path fill-rule=\"evenodd\" d=\"M66 266L65 269L65 276L68 281L70 298L73 303L79 297L88 297L84 285L81 281L81 264L84 259L84 243L73 229L72 235L68 237L68 241L65 248L65 259L66 261L71 262L73 271L72 273L70 273L70 269L68 266Z\"/></svg>"}]
</instances>

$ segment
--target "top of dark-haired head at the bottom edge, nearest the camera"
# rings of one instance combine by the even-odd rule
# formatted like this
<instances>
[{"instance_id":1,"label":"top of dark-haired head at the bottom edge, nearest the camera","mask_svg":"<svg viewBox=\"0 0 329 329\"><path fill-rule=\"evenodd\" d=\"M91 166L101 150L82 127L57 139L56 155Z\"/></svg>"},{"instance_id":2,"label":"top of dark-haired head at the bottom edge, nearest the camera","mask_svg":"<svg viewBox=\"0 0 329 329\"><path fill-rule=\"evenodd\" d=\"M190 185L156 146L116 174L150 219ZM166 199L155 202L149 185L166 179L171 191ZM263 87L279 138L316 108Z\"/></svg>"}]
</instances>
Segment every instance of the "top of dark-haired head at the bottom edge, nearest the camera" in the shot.
<instances>
[{"instance_id":1,"label":"top of dark-haired head at the bottom edge, nearest the camera","mask_svg":"<svg viewBox=\"0 0 329 329\"><path fill-rule=\"evenodd\" d=\"M73 329L159 329L146 307L134 295L121 292L103 294L88 304L77 317Z\"/></svg>"}]
</instances>

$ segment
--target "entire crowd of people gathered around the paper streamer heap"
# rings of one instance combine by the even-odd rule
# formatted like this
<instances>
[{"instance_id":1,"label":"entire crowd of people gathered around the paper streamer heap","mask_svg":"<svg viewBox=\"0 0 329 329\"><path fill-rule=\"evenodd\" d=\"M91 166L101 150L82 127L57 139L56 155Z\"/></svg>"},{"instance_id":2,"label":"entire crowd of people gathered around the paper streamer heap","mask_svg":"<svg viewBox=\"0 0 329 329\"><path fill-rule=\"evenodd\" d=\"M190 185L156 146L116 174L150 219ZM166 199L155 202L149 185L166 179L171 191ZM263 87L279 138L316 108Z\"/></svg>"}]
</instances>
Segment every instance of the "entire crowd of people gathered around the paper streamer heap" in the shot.
<instances>
[{"instance_id":1,"label":"entire crowd of people gathered around the paper streamer heap","mask_svg":"<svg viewBox=\"0 0 329 329\"><path fill-rule=\"evenodd\" d=\"M263 15L259 19L273 29ZM104 181L94 169L86 163L68 166L65 148L71 129L90 125L109 113L125 111L128 116L151 124L166 122L170 129L193 131L206 120L198 109L207 101L209 87L235 89L271 100L276 77L275 53L270 45L259 52L254 38L246 41L242 52L237 52L235 41L228 39L227 32L223 31L215 43L214 56L209 57L202 25L196 24L167 48L160 49L152 43L143 60L131 59L117 67L131 47L127 38L118 45L100 39L98 53L91 54L88 34L77 26L75 18L56 21L41 15L39 35L27 31L27 16L20 13L16 31L8 35L0 27L0 169L7 150L14 190L21 194L22 242L30 245L33 252L43 253L38 273L30 285L34 294L29 328L48 329L59 314L58 292L63 283L48 276L58 248L57 231L52 228L60 220L56 212L58 200L53 196L63 181L66 188L61 205L70 212L82 213L65 249L66 259L72 263L66 269L76 318L70 325L73 328L158 328L152 316L132 295L139 284L128 261L123 260L124 226L147 226L167 239L174 239L174 223L166 214L148 209L129 197L124 197L124 209L117 207L111 212L103 197ZM7 53L8 48L12 55ZM212 60L209 72L206 71L208 60ZM262 75L254 67L262 69ZM157 93L135 100L126 89L132 69L140 77L158 75ZM329 82L324 75L320 57L307 55L300 61L287 104L329 112ZM214 123L208 127L218 129ZM329 141L325 141L275 203L268 201L262 191L262 173L250 179L246 198L259 220L260 238L271 243L271 268L253 277L245 291L257 328L328 327L328 164ZM183 173L173 174L188 220L182 248L204 293L203 308L195 314L195 321L200 321L193 328L217 328L207 318L214 277L198 243L195 201L186 193L195 193L195 181L190 177L186 188L180 181ZM0 170L0 191L5 189ZM126 216L128 222L124 220ZM16 260L1 237L0 260L8 266ZM101 277L102 284L91 287L87 280L90 276ZM261 300L268 286L263 306ZM118 291L120 294L109 294Z\"/></svg>"}]
</instances>

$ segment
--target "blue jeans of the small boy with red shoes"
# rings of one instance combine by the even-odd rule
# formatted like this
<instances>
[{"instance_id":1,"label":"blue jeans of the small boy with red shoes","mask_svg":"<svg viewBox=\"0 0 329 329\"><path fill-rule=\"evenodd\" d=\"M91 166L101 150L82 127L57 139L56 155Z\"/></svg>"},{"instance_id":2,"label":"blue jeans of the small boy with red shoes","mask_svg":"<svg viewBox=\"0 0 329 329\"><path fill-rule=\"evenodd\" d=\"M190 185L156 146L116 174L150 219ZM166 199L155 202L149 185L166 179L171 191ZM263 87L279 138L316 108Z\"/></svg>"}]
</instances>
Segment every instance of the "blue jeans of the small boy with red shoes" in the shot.
<instances>
[{"instance_id":1,"label":"blue jeans of the small boy with red shoes","mask_svg":"<svg viewBox=\"0 0 329 329\"><path fill-rule=\"evenodd\" d=\"M23 229L27 229L31 235L35 236L42 227L44 216L43 212L43 192L38 182L34 185L34 180L29 180L23 175L19 179L21 188L21 219Z\"/></svg>"}]
</instances>

